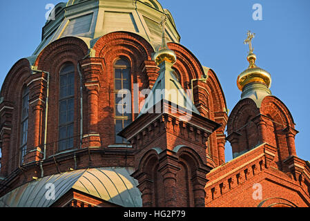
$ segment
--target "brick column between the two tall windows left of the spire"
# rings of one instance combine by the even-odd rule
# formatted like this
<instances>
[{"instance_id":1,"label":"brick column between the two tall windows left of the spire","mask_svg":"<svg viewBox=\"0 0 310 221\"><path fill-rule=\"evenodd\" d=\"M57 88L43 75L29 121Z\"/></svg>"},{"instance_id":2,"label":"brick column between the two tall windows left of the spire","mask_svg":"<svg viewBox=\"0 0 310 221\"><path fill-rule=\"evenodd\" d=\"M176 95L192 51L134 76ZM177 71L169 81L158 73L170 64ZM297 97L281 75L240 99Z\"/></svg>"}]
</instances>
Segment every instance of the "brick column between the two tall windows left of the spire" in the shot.
<instances>
[{"instance_id":1,"label":"brick column between the two tall windows left of the spire","mask_svg":"<svg viewBox=\"0 0 310 221\"><path fill-rule=\"evenodd\" d=\"M81 61L87 90L88 130L84 133L82 147L101 147L98 132L98 99L100 90L100 75L103 73L101 58L87 58Z\"/></svg>"}]
</instances>

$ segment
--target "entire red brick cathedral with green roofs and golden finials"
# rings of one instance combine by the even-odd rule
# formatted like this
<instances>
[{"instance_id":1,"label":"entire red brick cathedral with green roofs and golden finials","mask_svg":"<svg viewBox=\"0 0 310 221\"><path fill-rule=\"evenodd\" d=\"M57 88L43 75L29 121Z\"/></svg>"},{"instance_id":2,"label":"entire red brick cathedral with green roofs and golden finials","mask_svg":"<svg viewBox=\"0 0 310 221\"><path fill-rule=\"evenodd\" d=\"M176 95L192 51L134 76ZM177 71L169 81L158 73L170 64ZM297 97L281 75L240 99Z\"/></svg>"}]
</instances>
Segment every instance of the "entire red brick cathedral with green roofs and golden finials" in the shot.
<instances>
[{"instance_id":1,"label":"entire red brick cathedral with green roofs and golden finials","mask_svg":"<svg viewBox=\"0 0 310 221\"><path fill-rule=\"evenodd\" d=\"M69 0L51 15L1 88L0 206L310 206L310 163L254 34L229 113L157 0Z\"/></svg>"}]
</instances>

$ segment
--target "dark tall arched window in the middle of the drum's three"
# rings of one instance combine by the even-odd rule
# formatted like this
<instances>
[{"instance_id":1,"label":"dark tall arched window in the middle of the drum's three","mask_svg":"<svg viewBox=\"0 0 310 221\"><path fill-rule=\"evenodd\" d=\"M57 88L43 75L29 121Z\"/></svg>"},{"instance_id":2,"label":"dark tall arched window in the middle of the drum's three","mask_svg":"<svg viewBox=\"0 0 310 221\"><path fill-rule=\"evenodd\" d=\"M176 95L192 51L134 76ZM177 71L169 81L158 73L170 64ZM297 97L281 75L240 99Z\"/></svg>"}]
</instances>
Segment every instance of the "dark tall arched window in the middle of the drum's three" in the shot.
<instances>
[{"instance_id":1,"label":"dark tall arched window in the middle of the drum's three","mask_svg":"<svg viewBox=\"0 0 310 221\"><path fill-rule=\"evenodd\" d=\"M75 114L75 67L66 64L59 76L59 143L58 151L73 148Z\"/></svg>"}]
</instances>

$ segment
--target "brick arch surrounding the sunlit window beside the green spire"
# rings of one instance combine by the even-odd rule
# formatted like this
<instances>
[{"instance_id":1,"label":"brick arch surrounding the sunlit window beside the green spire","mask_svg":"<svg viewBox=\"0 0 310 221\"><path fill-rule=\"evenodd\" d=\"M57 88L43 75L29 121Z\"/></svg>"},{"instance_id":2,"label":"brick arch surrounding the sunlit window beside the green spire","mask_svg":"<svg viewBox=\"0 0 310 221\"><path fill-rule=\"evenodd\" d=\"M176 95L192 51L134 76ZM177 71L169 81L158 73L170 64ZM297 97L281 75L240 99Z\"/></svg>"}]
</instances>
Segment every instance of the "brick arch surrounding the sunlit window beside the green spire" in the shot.
<instances>
[{"instance_id":1,"label":"brick arch surrounding the sunlit window beside the green spire","mask_svg":"<svg viewBox=\"0 0 310 221\"><path fill-rule=\"evenodd\" d=\"M95 41L92 50L94 52L92 57L95 58L90 59L97 59L97 61L94 64L91 64L92 62L89 61L86 63L91 64L91 66L95 66L95 63L96 65L100 63L102 68L101 73L97 77L100 90L97 92L99 99L96 102L97 108L100 108L101 115L96 117L93 124L98 125L101 146L108 146L115 142L115 61L123 58L130 63L132 108L135 107L134 102L137 99L137 96L134 95L135 88L133 84L138 84L140 91L149 88L151 76L158 75L155 72L157 66L152 61L154 49L151 44L143 37L130 32L111 32L104 35ZM90 73L92 73L92 70L90 70ZM142 102L142 100L143 98L139 97L139 102ZM86 112L87 110L84 111L84 113ZM137 114L133 114L133 119L137 117ZM109 125L110 128L107 128L106 125Z\"/></svg>"}]
</instances>

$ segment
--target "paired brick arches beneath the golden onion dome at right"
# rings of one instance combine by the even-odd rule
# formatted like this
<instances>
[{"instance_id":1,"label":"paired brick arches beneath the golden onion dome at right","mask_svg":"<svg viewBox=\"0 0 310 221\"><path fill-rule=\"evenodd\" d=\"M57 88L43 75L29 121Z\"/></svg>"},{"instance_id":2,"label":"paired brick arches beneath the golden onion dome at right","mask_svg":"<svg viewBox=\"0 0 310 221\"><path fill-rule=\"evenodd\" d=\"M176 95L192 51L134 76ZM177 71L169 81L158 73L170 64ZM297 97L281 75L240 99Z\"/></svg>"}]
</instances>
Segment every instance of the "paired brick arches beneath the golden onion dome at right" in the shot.
<instances>
[{"instance_id":1,"label":"paired brick arches beneath the golden onion dome at right","mask_svg":"<svg viewBox=\"0 0 310 221\"><path fill-rule=\"evenodd\" d=\"M291 113L277 97L264 97L260 108L252 99L242 99L233 108L227 127L227 140L231 142L234 155L267 143L277 149L275 163L281 170L287 170L285 160L296 156L295 136L298 131Z\"/></svg>"}]
</instances>

